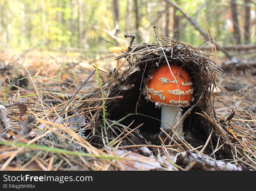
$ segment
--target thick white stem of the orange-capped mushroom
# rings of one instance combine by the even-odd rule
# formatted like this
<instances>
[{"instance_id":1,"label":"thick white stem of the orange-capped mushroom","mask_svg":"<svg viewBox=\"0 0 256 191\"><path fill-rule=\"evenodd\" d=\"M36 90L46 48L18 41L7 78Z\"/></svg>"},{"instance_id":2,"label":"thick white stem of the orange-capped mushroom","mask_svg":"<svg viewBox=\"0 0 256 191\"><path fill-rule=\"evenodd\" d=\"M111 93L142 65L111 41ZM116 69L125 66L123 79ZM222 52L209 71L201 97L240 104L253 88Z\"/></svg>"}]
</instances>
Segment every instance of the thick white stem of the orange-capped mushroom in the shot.
<instances>
[{"instance_id":1,"label":"thick white stem of the orange-capped mushroom","mask_svg":"<svg viewBox=\"0 0 256 191\"><path fill-rule=\"evenodd\" d=\"M175 119L181 116L177 116L179 107L163 105L161 107L161 128L170 129L175 124ZM170 126L166 123L168 122ZM175 130L180 136L183 136L183 124L182 122L177 126Z\"/></svg>"}]
</instances>

